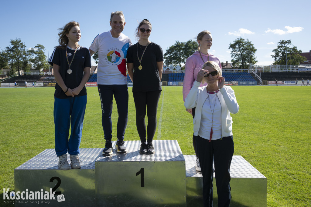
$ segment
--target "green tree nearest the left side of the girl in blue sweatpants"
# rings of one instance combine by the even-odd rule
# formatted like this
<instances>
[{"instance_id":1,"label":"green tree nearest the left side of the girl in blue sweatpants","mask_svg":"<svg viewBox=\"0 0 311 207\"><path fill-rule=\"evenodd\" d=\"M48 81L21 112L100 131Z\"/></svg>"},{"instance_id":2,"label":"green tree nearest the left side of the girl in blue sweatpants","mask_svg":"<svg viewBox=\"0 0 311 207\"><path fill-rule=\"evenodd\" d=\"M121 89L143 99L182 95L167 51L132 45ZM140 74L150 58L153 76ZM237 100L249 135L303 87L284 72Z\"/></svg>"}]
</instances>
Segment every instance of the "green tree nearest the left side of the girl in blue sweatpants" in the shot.
<instances>
[{"instance_id":1,"label":"green tree nearest the left side of the girl in blue sweatpants","mask_svg":"<svg viewBox=\"0 0 311 207\"><path fill-rule=\"evenodd\" d=\"M49 65L47 64L46 56L44 53L44 46L37 44L35 48L31 48L30 52L34 55L34 58L31 59L31 62L34 64L36 70L48 69Z\"/></svg>"}]
</instances>

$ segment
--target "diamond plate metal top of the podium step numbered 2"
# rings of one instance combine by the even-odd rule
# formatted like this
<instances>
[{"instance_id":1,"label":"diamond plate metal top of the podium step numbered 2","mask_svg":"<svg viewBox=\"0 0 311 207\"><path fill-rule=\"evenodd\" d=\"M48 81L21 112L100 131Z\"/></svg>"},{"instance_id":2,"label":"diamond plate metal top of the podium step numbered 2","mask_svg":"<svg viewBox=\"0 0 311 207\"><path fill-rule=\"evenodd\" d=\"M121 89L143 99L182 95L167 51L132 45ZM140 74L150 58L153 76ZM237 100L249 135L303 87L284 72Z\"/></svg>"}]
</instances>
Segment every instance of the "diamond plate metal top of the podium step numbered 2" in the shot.
<instances>
[{"instance_id":1,"label":"diamond plate metal top of the podium step numbered 2","mask_svg":"<svg viewBox=\"0 0 311 207\"><path fill-rule=\"evenodd\" d=\"M102 156L104 148L81 148L79 159L81 169L95 169L95 160ZM69 154L67 154L68 163L70 165ZM58 157L55 154L55 149L46 149L34 156L24 164L16 168L16 170L38 170L38 169L58 169Z\"/></svg>"}]
</instances>

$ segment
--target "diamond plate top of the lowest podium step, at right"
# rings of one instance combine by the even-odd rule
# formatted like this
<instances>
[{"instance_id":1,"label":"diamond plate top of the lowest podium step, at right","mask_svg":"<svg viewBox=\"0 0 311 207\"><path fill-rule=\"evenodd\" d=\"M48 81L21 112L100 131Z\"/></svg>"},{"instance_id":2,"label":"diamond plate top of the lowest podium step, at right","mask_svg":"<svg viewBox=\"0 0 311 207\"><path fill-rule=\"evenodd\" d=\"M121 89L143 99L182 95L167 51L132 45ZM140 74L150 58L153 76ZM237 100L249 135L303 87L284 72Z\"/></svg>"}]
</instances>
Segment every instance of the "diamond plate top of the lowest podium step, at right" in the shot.
<instances>
[{"instance_id":1,"label":"diamond plate top of the lowest podium step, at right","mask_svg":"<svg viewBox=\"0 0 311 207\"><path fill-rule=\"evenodd\" d=\"M195 169L195 155L183 155L186 161L186 177L202 177ZM266 178L242 156L234 155L230 166L231 178ZM215 178L215 173L214 173Z\"/></svg>"}]
</instances>

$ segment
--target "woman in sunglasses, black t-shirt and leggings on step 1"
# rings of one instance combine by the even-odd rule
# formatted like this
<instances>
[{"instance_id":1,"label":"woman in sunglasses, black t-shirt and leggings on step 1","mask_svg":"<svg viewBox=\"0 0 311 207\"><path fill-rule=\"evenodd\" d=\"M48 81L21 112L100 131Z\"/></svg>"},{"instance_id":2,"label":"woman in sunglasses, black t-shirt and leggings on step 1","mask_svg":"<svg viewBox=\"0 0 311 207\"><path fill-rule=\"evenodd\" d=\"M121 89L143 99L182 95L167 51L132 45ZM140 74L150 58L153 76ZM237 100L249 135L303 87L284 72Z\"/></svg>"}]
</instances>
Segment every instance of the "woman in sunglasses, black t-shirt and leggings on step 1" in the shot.
<instances>
[{"instance_id":1,"label":"woman in sunglasses, black t-shirt and leggings on step 1","mask_svg":"<svg viewBox=\"0 0 311 207\"><path fill-rule=\"evenodd\" d=\"M162 48L149 41L151 23L144 19L136 28L138 43L128 48L128 74L133 82L137 132L142 142L139 153L155 153L152 140L156 133L156 112L161 95ZM134 70L134 71L133 71ZM147 142L145 116L148 116Z\"/></svg>"}]
</instances>

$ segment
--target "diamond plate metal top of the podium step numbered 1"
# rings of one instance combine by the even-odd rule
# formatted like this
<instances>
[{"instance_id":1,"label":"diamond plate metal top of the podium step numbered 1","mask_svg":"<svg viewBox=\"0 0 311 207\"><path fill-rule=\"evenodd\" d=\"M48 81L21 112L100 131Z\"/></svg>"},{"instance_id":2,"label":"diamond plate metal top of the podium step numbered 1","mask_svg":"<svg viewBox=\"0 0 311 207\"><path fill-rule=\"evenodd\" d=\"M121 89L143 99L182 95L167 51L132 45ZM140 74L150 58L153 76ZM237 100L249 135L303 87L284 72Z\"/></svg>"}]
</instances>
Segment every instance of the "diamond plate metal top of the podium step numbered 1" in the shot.
<instances>
[{"instance_id":1,"label":"diamond plate metal top of the podium step numbered 1","mask_svg":"<svg viewBox=\"0 0 311 207\"><path fill-rule=\"evenodd\" d=\"M115 146L116 141L112 142ZM156 153L152 155L139 154L141 141L124 141L127 153L119 154L114 149L113 155L100 156L96 162L131 162L131 161L185 161L177 140L153 140Z\"/></svg>"}]
</instances>

